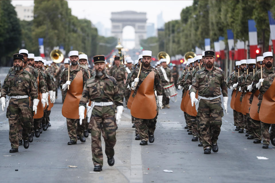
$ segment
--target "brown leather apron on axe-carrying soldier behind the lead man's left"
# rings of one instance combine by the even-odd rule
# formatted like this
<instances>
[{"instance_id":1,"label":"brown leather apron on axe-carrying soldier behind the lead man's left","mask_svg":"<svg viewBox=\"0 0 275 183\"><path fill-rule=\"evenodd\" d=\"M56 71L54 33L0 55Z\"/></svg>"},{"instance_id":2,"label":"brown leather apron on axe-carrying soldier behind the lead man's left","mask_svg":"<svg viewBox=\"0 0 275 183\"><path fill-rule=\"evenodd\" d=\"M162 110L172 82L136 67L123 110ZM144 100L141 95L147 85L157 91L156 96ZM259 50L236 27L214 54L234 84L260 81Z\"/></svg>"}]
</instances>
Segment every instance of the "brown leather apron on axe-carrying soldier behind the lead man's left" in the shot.
<instances>
[{"instance_id":1,"label":"brown leather apron on axe-carrying soldier behind the lead man's left","mask_svg":"<svg viewBox=\"0 0 275 183\"><path fill-rule=\"evenodd\" d=\"M83 73L82 70L78 71L74 77L74 80L70 84L70 89L67 90L67 94L62 106L62 115L65 118L79 119L78 107L80 98L83 91ZM86 118L86 109L84 112L84 118Z\"/></svg>"}]
</instances>

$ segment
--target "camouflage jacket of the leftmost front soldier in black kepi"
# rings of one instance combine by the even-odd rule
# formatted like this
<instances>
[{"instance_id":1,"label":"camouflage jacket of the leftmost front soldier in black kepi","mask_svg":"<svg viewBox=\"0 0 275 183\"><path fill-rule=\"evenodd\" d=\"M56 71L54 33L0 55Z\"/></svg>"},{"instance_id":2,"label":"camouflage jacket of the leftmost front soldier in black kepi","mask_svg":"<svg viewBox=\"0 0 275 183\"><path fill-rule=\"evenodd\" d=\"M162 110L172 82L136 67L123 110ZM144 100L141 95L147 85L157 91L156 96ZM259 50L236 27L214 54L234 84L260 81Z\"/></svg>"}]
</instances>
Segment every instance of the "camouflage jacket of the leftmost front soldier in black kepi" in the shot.
<instances>
[{"instance_id":1,"label":"camouflage jacket of the leftmost front soldier in black kepi","mask_svg":"<svg viewBox=\"0 0 275 183\"><path fill-rule=\"evenodd\" d=\"M28 95L32 100L37 99L37 85L34 76L23 70L22 72L11 71L6 76L2 89L1 97Z\"/></svg>"}]
</instances>

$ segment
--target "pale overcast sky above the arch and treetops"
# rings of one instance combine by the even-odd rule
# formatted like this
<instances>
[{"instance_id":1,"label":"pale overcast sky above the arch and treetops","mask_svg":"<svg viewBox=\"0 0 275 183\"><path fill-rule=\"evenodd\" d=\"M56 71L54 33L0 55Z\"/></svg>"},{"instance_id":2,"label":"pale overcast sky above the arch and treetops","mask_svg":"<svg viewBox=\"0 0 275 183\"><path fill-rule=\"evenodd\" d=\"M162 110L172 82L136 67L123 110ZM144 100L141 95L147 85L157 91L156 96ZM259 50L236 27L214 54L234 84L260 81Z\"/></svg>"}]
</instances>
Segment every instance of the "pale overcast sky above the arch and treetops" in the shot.
<instances>
[{"instance_id":1,"label":"pale overcast sky above the arch and treetops","mask_svg":"<svg viewBox=\"0 0 275 183\"><path fill-rule=\"evenodd\" d=\"M180 19L182 8L192 5L193 1L73 1L69 0L69 8L72 15L78 18L87 18L93 24L101 22L104 27L111 27L111 12L137 11L147 13L147 22L155 23L157 26L157 15L162 11L165 22ZM13 6L31 6L34 1L12 1Z\"/></svg>"}]
</instances>

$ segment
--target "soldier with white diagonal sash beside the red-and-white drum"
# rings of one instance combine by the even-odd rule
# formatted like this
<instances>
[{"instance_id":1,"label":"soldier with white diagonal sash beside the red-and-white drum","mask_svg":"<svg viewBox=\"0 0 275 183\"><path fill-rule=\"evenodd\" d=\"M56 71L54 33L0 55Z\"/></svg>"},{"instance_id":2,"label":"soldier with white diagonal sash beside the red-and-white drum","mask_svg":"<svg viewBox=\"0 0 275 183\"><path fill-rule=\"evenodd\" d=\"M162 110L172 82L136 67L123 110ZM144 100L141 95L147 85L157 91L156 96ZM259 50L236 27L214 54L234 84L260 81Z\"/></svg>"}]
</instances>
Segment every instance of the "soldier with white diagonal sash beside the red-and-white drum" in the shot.
<instances>
[{"instance_id":1,"label":"soldier with white diagonal sash beside the red-and-white drum","mask_svg":"<svg viewBox=\"0 0 275 183\"><path fill-rule=\"evenodd\" d=\"M160 59L161 67L158 68L158 71L160 72L160 79L161 79L161 89L162 89L162 95L163 95L163 106L170 108L169 106L169 98L166 96L164 92L164 86L168 85L170 82L173 82L173 77L171 75L171 70L169 67L167 67L166 59L162 58Z\"/></svg>"}]
</instances>

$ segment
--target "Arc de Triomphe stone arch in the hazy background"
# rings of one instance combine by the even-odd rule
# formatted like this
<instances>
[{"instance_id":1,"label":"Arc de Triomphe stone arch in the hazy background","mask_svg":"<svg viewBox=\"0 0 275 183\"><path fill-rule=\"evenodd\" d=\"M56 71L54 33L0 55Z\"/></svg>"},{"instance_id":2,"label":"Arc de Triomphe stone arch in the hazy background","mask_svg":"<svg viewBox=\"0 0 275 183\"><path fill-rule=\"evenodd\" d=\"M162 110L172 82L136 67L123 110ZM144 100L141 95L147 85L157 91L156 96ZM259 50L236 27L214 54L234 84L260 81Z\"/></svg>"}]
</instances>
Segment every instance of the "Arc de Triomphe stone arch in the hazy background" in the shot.
<instances>
[{"instance_id":1,"label":"Arc de Triomphe stone arch in the hazy background","mask_svg":"<svg viewBox=\"0 0 275 183\"><path fill-rule=\"evenodd\" d=\"M122 42L122 30L125 26L130 25L135 29L135 49L140 48L140 39L146 39L146 13L136 11L121 11L111 13L113 37L120 38Z\"/></svg>"}]
</instances>

